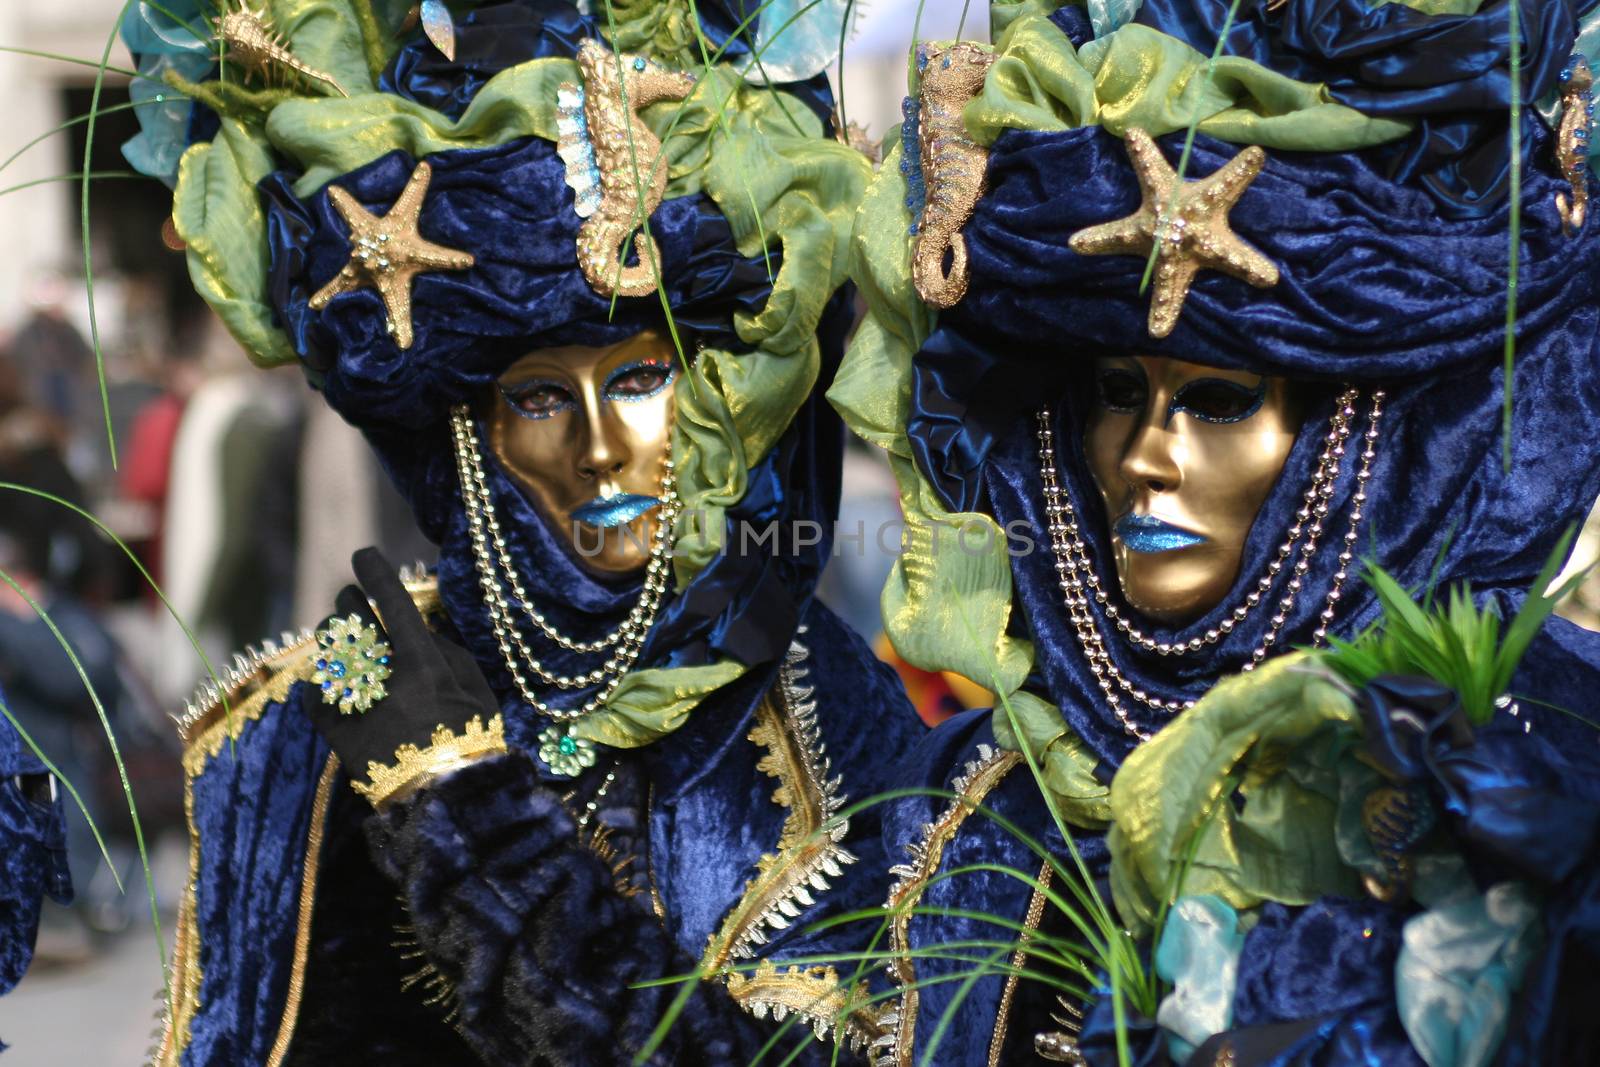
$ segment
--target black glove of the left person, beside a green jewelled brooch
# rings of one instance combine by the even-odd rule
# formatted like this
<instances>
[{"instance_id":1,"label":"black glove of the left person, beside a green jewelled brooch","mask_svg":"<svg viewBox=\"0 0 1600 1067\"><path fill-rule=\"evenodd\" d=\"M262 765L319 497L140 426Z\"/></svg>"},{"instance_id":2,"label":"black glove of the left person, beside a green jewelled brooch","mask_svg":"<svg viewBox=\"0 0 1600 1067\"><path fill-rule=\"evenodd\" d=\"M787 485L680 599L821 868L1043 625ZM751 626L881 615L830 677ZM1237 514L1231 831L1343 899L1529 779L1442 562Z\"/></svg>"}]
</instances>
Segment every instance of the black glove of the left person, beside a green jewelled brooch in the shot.
<instances>
[{"instance_id":1,"label":"black glove of the left person, beside a green jewelled brooch","mask_svg":"<svg viewBox=\"0 0 1600 1067\"><path fill-rule=\"evenodd\" d=\"M392 765L400 745L427 749L437 726L461 734L475 717L486 723L499 704L472 654L427 629L394 565L378 549L362 549L350 563L360 587L339 592L338 614L328 622L355 614L378 627L390 646L387 696L366 712L342 713L314 693L307 707L339 763L362 779L368 761Z\"/></svg>"}]
</instances>

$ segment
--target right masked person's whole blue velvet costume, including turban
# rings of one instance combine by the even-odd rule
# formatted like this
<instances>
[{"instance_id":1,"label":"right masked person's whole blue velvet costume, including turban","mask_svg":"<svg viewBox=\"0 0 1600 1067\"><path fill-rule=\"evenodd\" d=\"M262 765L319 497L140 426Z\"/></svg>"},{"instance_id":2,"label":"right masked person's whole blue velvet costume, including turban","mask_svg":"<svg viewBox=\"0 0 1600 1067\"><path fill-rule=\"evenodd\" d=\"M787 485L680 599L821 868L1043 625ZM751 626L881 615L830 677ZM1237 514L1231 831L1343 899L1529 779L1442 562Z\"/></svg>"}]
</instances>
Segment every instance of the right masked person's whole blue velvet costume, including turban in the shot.
<instances>
[{"instance_id":1,"label":"right masked person's whole blue velvet costume, including turban","mask_svg":"<svg viewBox=\"0 0 1600 1067\"><path fill-rule=\"evenodd\" d=\"M1525 101L1555 88L1574 48L1578 18L1589 6L1522 5ZM1098 10L1104 14L1106 5ZM1133 19L1210 53L1226 13L1226 3L1146 0ZM1122 139L1094 125L1008 128L989 147L982 198L962 227L966 293L939 312L910 366L909 450L917 475L950 512L986 512L1005 530L1021 520L1021 528L1038 537L1038 550L1011 560L1013 633L1037 649L1024 688L1059 707L1102 782L1110 782L1136 741L1107 709L1062 600L1056 560L1042 533L1048 520L1034 421L1040 402L1054 405L1061 482L1090 557L1107 581L1107 517L1083 454L1094 355L1168 355L1322 382L1325 389L1256 517L1240 576L1221 606L1173 629L1117 600L1157 641L1178 645L1216 630L1253 589L1301 506L1338 384L1387 392L1358 550L1406 587L1430 577L1440 587L1466 581L1475 597L1498 601L1509 616L1560 534L1582 522L1600 493L1600 462L1590 448L1600 429L1600 394L1594 389L1600 230L1590 219L1578 234L1563 234L1554 205L1568 181L1552 160L1550 130L1530 110L1522 122L1515 432L1510 467L1501 461L1509 226L1502 19L1502 5L1485 5L1475 16L1336 0L1243 5L1227 54L1325 82L1334 99L1366 114L1421 122L1408 138L1366 150L1269 149L1230 224L1278 266L1282 280L1258 290L1202 272L1176 328L1162 339L1149 336L1146 326L1150 296L1139 291L1142 256L1080 256L1069 248L1072 234L1139 206ZM1062 48L1083 46L1093 37L1082 8L1064 6L1051 21ZM1006 77L1021 83L1014 67ZM990 74L990 88L995 78ZM966 112L970 123L979 109L974 102ZM1182 141L1181 130L1157 138L1170 162L1178 160ZM1200 134L1189 174L1211 174L1237 154L1237 144ZM1354 491L1347 466L1328 499L1330 523L1342 523L1338 517ZM1304 585L1312 592L1290 613L1278 649L1310 643L1323 608L1317 590L1330 585L1339 566L1334 555L1325 549L1310 560ZM1286 579L1288 573L1270 590L1269 603ZM1107 589L1118 597L1115 581ZM1114 633L1104 609L1093 600L1088 608L1099 630ZM1166 657L1123 641L1109 648L1134 686L1192 701L1250 659L1267 629L1266 614L1224 630L1197 654ZM1350 582L1330 629L1352 635L1378 616L1373 592ZM1544 947L1515 993L1493 1062L1600 1057L1600 1030L1592 1009L1584 1008L1595 993L1600 920L1594 896L1600 873L1597 685L1600 635L1552 619L1510 686L1520 717L1498 715L1480 728L1458 753L1462 768L1419 771L1445 798L1450 829L1477 885L1531 880L1542 901ZM1133 701L1128 713L1147 731L1166 718ZM909 760L901 784L981 798L1061 856L1038 785L1014 753L994 747L987 720L986 712L971 712L939 726ZM934 849L930 861L928 845L941 840L946 806L917 797L885 816L885 848L902 856L912 846L918 878L974 862L1038 869L1034 853L976 814L968 814L944 841L942 854ZM1075 841L1091 875L1104 878L1109 861L1101 835L1075 829ZM1104 881L1101 891L1109 899ZM928 883L922 904L981 907L1026 926L1038 921L1037 912L1029 915L1030 896L1029 886L1008 875L971 872ZM1395 1008L1402 926L1414 913L1416 905L1357 897L1325 897L1309 907L1267 904L1238 958L1234 1030L1189 1062L1422 1064ZM1013 934L970 918L917 915L906 944L931 949L982 936ZM970 966L970 960L925 960L915 965L914 977L925 982ZM904 987L906 977L896 984ZM1114 1064L1110 998L1099 992L1099 1011L1088 1017L1078 1046L1086 1062ZM1032 1037L1061 1029L1059 1019L1050 1019L1061 1014L1051 990L1003 974L982 977L971 989L952 981L931 984L918 1001L914 1021L901 1019L894 1054L883 1062L922 1062L941 1022L950 1025L934 1062L1042 1062ZM904 997L901 1003L907 1003ZM947 1011L954 1013L949 1019ZM1147 1019L1134 1021L1133 1051L1139 1064L1171 1062Z\"/></svg>"}]
</instances>

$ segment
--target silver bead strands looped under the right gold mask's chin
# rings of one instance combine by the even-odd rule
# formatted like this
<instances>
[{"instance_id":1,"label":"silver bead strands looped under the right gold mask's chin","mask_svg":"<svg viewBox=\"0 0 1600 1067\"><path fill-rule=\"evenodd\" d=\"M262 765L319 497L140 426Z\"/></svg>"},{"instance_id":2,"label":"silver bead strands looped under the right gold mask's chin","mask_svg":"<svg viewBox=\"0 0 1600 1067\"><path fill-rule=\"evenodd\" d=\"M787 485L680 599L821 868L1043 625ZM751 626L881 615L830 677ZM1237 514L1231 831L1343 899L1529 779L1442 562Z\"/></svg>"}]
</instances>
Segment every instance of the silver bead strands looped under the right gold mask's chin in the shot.
<instances>
[{"instance_id":1,"label":"silver bead strands looped under the right gold mask's chin","mask_svg":"<svg viewBox=\"0 0 1600 1067\"><path fill-rule=\"evenodd\" d=\"M1061 593L1067 606L1067 614L1072 621L1074 633L1077 635L1078 645L1088 659L1090 670L1094 673L1094 680L1099 685L1101 693L1106 694L1107 704L1117 715L1117 721L1122 723L1122 728L1130 736L1139 741L1149 741L1150 733L1142 729L1128 717L1128 712L1123 707L1123 696L1128 696L1157 712L1166 713L1176 713L1192 707L1194 701L1162 699L1160 696L1154 696L1138 688L1128 680L1126 675L1123 675L1122 669L1117 667L1110 653L1106 649L1106 640L1101 635L1099 622L1094 619L1094 613L1090 608L1090 595L1094 597L1094 601L1102 606L1107 617L1117 624L1118 633L1122 633L1130 643L1162 656L1187 654L1222 640L1222 637L1230 633L1238 622L1248 617L1250 611L1261 603L1262 595L1272 587L1272 582L1282 573L1283 565L1294 553L1294 547L1298 544L1299 560L1294 561L1294 573L1290 576L1285 595L1278 600L1278 611L1272 616L1270 625L1262 635L1261 643L1251 651L1250 661L1243 665L1245 670L1253 670L1256 664L1267 657L1269 649L1277 643L1278 633L1288 621L1301 592L1304 574L1310 569L1310 558L1317 552L1317 544L1323 533L1323 520L1328 517L1328 499L1333 494L1333 488L1338 483L1339 472L1344 466L1346 443L1349 442L1352 432L1357 398L1358 392L1354 389L1339 397L1334 414L1330 419L1328 435L1323 442L1323 453L1318 458L1317 474L1312 477L1312 485L1306 490L1302 506L1294 515L1294 525L1290 528L1283 544L1278 545L1277 557L1267 565L1267 573L1256 582L1256 589L1245 597L1245 603L1235 606L1214 629L1206 630L1203 637L1178 643L1155 641L1138 627L1128 624L1122 617L1117 606L1110 603L1094 568L1094 561L1090 558L1088 545L1080 536L1077 510L1072 507L1070 498L1061 488L1054 430L1051 429L1051 410L1048 405L1038 410L1037 434L1040 480L1045 488L1045 517L1050 526L1051 553L1056 560L1056 581L1061 585ZM1350 502L1349 528L1344 533L1344 545L1339 553L1339 569L1333 576L1333 584L1328 589L1323 611L1318 616L1318 625L1312 635L1314 643L1320 643L1328 637L1328 625L1333 622L1336 614L1334 605L1338 605L1339 597L1342 595L1344 582L1349 579L1349 565L1355 558L1355 542L1360 536L1360 520L1366 504L1366 483L1371 478L1373 459L1376 459L1378 454L1374 451L1374 445L1378 442L1378 419L1382 414L1382 390L1374 392L1371 411L1366 416L1366 432L1360 453L1360 464L1355 474L1357 482L1355 494ZM1302 537L1304 541L1301 541Z\"/></svg>"}]
</instances>

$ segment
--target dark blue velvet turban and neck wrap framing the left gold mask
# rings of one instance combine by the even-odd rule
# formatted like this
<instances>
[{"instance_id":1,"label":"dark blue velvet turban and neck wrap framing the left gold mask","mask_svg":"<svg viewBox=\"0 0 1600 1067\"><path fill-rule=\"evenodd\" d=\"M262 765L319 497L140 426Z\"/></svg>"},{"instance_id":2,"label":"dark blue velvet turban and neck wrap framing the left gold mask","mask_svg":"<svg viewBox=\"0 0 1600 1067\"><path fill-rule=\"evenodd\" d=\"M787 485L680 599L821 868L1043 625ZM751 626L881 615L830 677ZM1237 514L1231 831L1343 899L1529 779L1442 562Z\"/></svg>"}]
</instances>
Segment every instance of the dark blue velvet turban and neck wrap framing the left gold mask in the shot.
<instances>
[{"instance_id":1,"label":"dark blue velvet turban and neck wrap framing the left gold mask","mask_svg":"<svg viewBox=\"0 0 1600 1067\"><path fill-rule=\"evenodd\" d=\"M454 64L402 50L386 86L446 112L459 110L499 69L534 56L566 56L589 32L570 3L514 3L482 8L458 27ZM430 48L430 46L427 46ZM530 54L531 53L531 54ZM314 312L309 298L349 259L347 227L326 189L293 194L293 174L261 184L267 213L272 304L307 374L330 406L357 426L406 496L422 531L440 544L440 592L451 621L480 659L491 685L515 702L515 689L494 654L480 600L462 507L448 414L477 398L530 350L605 346L664 325L661 296L672 307L685 349L698 344L738 352L738 312L758 312L779 266L774 253L747 259L728 222L704 195L662 202L650 219L661 248L661 293L646 298L597 294L578 269L582 219L573 210L565 163L555 146L522 138L490 149L429 155L434 171L421 214L432 242L469 251L475 266L422 274L413 283L414 341L395 347L384 328L382 301L358 290ZM414 160L392 152L338 178L368 210L382 213L405 187ZM822 323L821 384L842 352L848 304L837 299ZM821 395L821 390L818 390ZM766 528L811 520L830 528L838 501L843 427L821 402L808 402L778 446L749 475L749 490L728 522ZM603 632L634 606L637 576L598 577L549 528L517 483L485 456L486 475L507 530L509 549L541 611L566 632ZM792 537L790 537L792 541ZM694 665L722 657L771 662L787 648L798 609L810 595L830 542L755 545L730 550L666 601L640 667ZM587 669L571 653L552 651L547 665ZM581 699L581 694L579 694ZM507 718L515 742L536 747L525 715ZM528 736L522 736L528 733Z\"/></svg>"}]
</instances>

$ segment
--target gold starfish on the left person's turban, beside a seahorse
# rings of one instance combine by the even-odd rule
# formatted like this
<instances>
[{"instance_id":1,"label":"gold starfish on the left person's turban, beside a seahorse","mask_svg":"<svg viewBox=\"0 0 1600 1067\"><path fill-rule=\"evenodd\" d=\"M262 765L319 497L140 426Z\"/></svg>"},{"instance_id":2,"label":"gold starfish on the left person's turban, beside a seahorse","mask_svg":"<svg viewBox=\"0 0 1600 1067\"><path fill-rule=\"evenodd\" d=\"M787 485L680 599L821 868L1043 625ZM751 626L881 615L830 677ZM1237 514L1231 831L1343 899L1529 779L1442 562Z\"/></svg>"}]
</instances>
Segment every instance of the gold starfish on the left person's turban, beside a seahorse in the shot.
<instances>
[{"instance_id":1,"label":"gold starfish on the left person's turban, beside a seahorse","mask_svg":"<svg viewBox=\"0 0 1600 1067\"><path fill-rule=\"evenodd\" d=\"M371 286L384 298L384 325L395 344L411 347L411 280L430 270L466 270L475 262L470 253L435 245L418 234L418 216L432 178L434 168L418 163L405 192L382 218L344 189L328 186L334 210L350 224L350 261L310 298L312 310L320 312L341 293Z\"/></svg>"}]
</instances>

